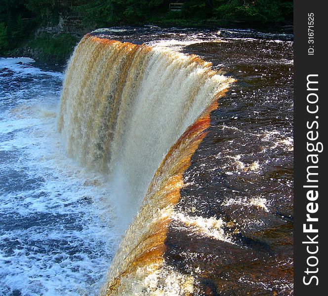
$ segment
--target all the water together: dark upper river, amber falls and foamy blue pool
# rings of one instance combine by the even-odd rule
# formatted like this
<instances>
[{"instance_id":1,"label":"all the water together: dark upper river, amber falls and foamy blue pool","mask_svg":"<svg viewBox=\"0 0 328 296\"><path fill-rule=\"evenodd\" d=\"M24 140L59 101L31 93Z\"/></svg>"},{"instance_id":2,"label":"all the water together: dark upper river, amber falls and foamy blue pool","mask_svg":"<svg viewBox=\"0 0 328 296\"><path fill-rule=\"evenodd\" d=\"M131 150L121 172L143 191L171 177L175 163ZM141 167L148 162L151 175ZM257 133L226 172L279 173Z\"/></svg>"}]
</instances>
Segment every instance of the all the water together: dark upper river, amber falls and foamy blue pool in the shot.
<instances>
[{"instance_id":1,"label":"all the water together: dark upper river, amber falls and foamy blue pool","mask_svg":"<svg viewBox=\"0 0 328 296\"><path fill-rule=\"evenodd\" d=\"M292 295L292 46L99 29L60 102L61 74L1 60L0 169L29 187L0 180L0 295Z\"/></svg>"}]
</instances>

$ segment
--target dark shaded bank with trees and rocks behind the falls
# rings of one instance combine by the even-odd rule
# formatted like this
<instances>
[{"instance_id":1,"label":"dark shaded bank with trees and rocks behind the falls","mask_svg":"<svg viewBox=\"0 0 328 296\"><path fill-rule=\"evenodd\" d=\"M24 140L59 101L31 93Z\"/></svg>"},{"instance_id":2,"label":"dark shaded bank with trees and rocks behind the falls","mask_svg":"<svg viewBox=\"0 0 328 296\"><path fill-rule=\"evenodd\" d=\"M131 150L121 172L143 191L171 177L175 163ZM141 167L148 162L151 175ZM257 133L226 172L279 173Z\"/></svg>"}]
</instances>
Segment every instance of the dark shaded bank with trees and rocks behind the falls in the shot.
<instances>
[{"instance_id":1,"label":"dark shaded bank with trees and rocks behind the falls","mask_svg":"<svg viewBox=\"0 0 328 296\"><path fill-rule=\"evenodd\" d=\"M226 28L275 34L291 33L293 26L291 0L184 0L177 7L168 0L9 2L0 5L0 56L51 64L65 64L77 41L97 28Z\"/></svg>"}]
</instances>

